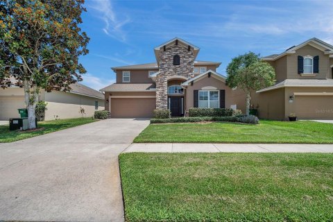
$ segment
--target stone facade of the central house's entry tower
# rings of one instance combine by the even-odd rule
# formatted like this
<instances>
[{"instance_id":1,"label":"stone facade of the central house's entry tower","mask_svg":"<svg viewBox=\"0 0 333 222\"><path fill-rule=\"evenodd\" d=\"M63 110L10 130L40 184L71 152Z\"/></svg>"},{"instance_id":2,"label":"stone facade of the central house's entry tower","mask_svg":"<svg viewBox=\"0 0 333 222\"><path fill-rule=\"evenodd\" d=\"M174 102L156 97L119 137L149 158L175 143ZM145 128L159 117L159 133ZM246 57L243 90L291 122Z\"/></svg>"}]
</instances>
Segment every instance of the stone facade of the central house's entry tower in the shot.
<instances>
[{"instance_id":1,"label":"stone facade of the central house's entry tower","mask_svg":"<svg viewBox=\"0 0 333 222\"><path fill-rule=\"evenodd\" d=\"M180 65L173 65L173 56L180 56ZM190 78L194 71L194 51L188 51L184 44L173 43L166 50L160 50L160 74L156 77L156 108L168 108L168 78L184 76Z\"/></svg>"}]
</instances>

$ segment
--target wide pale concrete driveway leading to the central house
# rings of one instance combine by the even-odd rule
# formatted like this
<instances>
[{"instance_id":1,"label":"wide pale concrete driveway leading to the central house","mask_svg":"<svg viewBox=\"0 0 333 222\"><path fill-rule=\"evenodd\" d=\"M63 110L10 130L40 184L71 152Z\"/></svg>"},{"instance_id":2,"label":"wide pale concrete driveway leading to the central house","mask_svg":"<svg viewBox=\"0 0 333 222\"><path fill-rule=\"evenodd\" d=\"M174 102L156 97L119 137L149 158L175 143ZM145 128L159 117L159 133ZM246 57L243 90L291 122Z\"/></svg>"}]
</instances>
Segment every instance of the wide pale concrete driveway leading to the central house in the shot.
<instances>
[{"instance_id":1,"label":"wide pale concrete driveway leading to the central house","mask_svg":"<svg viewBox=\"0 0 333 222\"><path fill-rule=\"evenodd\" d=\"M148 123L107 119L0 144L0 221L123 221L117 156Z\"/></svg>"}]
</instances>

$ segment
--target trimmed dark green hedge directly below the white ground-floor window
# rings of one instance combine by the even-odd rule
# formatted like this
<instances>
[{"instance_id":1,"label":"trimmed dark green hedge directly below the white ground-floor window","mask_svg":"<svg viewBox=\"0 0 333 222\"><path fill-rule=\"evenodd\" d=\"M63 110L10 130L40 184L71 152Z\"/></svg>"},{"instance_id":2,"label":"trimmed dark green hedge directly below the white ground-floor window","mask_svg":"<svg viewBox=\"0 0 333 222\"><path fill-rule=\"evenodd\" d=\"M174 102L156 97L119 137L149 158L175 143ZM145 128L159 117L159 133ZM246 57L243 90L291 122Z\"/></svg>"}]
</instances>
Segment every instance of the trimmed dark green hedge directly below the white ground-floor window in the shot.
<instances>
[{"instance_id":1,"label":"trimmed dark green hedge directly below the white ground-floor window","mask_svg":"<svg viewBox=\"0 0 333 222\"><path fill-rule=\"evenodd\" d=\"M232 117L231 108L189 108L189 117Z\"/></svg>"}]
</instances>

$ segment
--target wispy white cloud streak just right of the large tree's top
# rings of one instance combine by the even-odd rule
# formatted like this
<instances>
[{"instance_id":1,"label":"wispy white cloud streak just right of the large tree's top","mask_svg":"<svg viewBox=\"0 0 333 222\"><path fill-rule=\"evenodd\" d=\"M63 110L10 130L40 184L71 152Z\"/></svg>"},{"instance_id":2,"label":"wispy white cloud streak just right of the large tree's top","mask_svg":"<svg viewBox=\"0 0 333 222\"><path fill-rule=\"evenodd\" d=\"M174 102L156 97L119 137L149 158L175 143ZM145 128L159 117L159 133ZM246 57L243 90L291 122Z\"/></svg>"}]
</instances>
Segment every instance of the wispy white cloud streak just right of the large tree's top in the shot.
<instances>
[{"instance_id":1,"label":"wispy white cloud streak just right of the large tree's top","mask_svg":"<svg viewBox=\"0 0 333 222\"><path fill-rule=\"evenodd\" d=\"M99 12L98 16L105 22L103 32L121 42L126 42L123 26L131 21L130 17L123 15L123 18L119 19L110 0L93 0L93 2L89 7Z\"/></svg>"}]
</instances>

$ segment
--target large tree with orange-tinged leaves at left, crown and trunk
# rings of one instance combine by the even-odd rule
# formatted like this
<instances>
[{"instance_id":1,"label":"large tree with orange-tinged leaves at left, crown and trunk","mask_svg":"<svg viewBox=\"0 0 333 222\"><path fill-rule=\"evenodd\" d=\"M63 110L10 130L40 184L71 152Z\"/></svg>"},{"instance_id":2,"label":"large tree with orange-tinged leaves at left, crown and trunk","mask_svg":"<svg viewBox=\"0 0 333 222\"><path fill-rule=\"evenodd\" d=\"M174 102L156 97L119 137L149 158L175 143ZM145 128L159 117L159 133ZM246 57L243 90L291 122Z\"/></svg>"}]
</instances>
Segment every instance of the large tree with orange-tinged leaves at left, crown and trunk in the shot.
<instances>
[{"instance_id":1,"label":"large tree with orange-tinged leaves at left, crown and trunk","mask_svg":"<svg viewBox=\"0 0 333 222\"><path fill-rule=\"evenodd\" d=\"M28 128L35 128L40 90L69 91L86 71L88 53L81 31L84 0L0 1L0 87L24 88Z\"/></svg>"}]
</instances>

